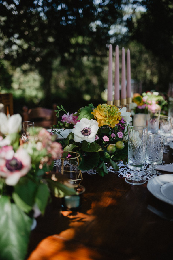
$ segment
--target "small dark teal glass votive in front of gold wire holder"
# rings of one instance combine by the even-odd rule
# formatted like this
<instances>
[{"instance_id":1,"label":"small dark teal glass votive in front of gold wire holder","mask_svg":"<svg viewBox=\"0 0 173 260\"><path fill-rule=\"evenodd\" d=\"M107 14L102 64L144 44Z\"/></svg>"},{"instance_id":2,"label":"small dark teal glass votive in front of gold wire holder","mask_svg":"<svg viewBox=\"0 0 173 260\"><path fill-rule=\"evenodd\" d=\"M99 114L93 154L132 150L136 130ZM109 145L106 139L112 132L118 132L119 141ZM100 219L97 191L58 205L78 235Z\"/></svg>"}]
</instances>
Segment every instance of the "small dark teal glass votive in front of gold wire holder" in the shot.
<instances>
[{"instance_id":1,"label":"small dark teal glass votive in front of gold wire holder","mask_svg":"<svg viewBox=\"0 0 173 260\"><path fill-rule=\"evenodd\" d=\"M82 185L77 185L74 184L74 188L76 190L76 195L66 195L65 197L62 198L62 209L63 210L77 210L81 207L82 205L82 195L85 191L84 186Z\"/></svg>"}]
</instances>

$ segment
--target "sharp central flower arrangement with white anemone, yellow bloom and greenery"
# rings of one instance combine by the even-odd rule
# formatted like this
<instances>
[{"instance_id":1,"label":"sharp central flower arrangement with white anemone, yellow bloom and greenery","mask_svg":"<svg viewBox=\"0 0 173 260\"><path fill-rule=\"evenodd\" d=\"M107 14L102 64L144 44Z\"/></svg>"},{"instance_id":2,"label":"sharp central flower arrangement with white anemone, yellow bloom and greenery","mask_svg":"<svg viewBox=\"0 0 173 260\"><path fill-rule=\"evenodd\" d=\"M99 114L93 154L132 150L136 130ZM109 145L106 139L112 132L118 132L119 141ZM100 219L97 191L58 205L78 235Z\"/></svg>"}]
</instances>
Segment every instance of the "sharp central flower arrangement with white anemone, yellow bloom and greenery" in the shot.
<instances>
[{"instance_id":1,"label":"sharp central flower arrangement with white anemone, yellow bloom and greenery","mask_svg":"<svg viewBox=\"0 0 173 260\"><path fill-rule=\"evenodd\" d=\"M126 107L119 109L107 104L94 107L89 104L74 114L66 112L63 106L57 108L58 117L60 111L65 114L57 125L53 125L52 133L61 135L62 128L71 130L67 138L61 140L61 144L65 152L80 153L79 170L95 168L98 174L104 176L108 174L106 164L118 170L117 161L126 163L127 126L132 121Z\"/></svg>"}]
</instances>

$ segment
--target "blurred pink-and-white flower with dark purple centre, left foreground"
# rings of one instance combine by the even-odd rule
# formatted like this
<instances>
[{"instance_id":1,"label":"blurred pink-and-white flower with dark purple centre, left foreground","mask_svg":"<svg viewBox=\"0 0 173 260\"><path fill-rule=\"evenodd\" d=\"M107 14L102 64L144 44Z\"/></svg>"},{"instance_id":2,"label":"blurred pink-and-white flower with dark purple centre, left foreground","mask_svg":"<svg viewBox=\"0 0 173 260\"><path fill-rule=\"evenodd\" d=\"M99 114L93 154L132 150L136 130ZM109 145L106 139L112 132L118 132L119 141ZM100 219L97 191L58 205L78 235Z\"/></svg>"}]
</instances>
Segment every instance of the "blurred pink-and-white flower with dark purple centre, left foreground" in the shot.
<instances>
[{"instance_id":1,"label":"blurred pink-and-white flower with dark purple centre, left foreground","mask_svg":"<svg viewBox=\"0 0 173 260\"><path fill-rule=\"evenodd\" d=\"M18 183L20 177L29 172L31 157L23 148L19 148L16 153L14 153L11 146L5 149L3 156L1 154L0 157L0 176L5 178L7 185L14 186Z\"/></svg>"}]
</instances>

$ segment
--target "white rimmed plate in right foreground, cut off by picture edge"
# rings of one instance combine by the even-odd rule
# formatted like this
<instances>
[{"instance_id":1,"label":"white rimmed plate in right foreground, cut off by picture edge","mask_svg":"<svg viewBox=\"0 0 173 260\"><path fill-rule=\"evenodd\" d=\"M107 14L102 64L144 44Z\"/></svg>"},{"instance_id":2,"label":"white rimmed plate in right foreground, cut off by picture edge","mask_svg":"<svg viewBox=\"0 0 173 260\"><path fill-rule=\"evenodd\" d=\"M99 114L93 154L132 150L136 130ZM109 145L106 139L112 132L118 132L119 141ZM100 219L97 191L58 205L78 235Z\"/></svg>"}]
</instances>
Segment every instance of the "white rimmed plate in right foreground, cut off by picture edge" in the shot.
<instances>
[{"instance_id":1,"label":"white rimmed plate in right foreground, cut off by picture edge","mask_svg":"<svg viewBox=\"0 0 173 260\"><path fill-rule=\"evenodd\" d=\"M150 179L147 188L156 198L173 205L173 174L159 175Z\"/></svg>"}]
</instances>

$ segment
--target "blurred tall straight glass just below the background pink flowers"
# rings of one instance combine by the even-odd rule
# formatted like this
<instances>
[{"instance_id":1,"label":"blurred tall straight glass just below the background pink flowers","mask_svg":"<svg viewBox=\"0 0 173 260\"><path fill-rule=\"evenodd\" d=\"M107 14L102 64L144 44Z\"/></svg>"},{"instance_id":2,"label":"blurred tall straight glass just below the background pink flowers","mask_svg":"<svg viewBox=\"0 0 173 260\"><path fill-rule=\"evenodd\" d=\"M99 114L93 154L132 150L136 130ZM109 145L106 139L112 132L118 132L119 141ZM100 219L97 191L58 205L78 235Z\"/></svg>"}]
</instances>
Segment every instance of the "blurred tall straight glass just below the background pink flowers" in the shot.
<instances>
[{"instance_id":1,"label":"blurred tall straight glass just below the background pink flowers","mask_svg":"<svg viewBox=\"0 0 173 260\"><path fill-rule=\"evenodd\" d=\"M148 109L148 134L157 134L159 130L160 110Z\"/></svg>"}]
</instances>

